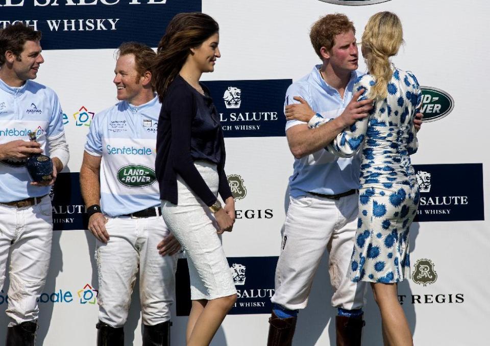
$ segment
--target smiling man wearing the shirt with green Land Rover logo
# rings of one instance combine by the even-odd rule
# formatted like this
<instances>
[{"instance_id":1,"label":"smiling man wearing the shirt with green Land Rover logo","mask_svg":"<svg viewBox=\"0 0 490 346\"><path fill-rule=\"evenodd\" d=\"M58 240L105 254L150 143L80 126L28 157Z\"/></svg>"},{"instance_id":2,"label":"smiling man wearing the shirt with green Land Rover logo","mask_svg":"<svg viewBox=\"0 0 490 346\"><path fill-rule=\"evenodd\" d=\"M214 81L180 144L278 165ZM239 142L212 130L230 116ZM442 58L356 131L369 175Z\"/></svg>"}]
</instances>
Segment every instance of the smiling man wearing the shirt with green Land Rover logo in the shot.
<instances>
[{"instance_id":1,"label":"smiling man wearing the shirt with green Land Rover logo","mask_svg":"<svg viewBox=\"0 0 490 346\"><path fill-rule=\"evenodd\" d=\"M151 83L155 57L146 45L121 44L114 70L120 102L93 118L80 169L88 228L96 237L100 346L124 345L138 271L143 346L170 344L180 245L161 217L155 175L161 108Z\"/></svg>"}]
</instances>

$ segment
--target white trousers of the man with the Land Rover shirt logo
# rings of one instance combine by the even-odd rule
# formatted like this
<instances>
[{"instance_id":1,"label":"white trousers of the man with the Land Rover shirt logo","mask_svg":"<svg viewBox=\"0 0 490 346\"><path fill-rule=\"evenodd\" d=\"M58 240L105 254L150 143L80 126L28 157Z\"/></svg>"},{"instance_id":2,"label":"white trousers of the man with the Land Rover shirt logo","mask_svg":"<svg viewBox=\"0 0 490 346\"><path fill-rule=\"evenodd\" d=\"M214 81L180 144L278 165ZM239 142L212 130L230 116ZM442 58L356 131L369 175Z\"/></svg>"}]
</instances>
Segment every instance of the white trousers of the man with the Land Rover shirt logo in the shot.
<instances>
[{"instance_id":1,"label":"white trousers of the man with the Land Rover shirt logo","mask_svg":"<svg viewBox=\"0 0 490 346\"><path fill-rule=\"evenodd\" d=\"M107 218L109 242L96 240L95 249L99 320L114 328L124 326L138 269L143 324L154 326L170 320L177 255L158 253L158 243L169 234L162 218Z\"/></svg>"}]
</instances>

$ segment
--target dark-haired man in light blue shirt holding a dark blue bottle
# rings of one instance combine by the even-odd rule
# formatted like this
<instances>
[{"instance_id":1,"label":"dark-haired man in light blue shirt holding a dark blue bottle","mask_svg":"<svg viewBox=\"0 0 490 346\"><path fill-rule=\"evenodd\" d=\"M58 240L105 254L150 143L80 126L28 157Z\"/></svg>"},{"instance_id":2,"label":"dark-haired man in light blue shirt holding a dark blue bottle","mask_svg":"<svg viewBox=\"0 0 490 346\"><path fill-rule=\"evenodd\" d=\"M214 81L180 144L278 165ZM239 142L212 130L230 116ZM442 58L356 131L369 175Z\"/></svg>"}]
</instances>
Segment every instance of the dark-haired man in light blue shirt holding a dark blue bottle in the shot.
<instances>
[{"instance_id":1,"label":"dark-haired man in light blue shirt holding a dark blue bottle","mask_svg":"<svg viewBox=\"0 0 490 346\"><path fill-rule=\"evenodd\" d=\"M0 31L0 288L10 254L7 346L35 343L53 236L49 193L69 157L58 96L31 81L44 62L40 39L21 23ZM38 143L29 141L33 131ZM52 158L51 181L31 182L26 159L33 153Z\"/></svg>"}]
</instances>

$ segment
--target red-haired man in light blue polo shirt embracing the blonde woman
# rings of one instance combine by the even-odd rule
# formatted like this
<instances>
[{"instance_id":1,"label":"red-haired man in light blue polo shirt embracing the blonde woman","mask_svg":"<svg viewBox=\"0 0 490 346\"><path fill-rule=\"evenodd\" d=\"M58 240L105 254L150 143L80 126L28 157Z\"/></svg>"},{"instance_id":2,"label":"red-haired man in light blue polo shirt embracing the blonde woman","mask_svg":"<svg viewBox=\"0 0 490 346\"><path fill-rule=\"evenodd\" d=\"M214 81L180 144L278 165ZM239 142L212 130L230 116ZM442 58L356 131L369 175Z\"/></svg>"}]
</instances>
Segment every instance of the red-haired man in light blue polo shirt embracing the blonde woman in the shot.
<instances>
[{"instance_id":1,"label":"red-haired man in light blue polo shirt embracing the blonde woman","mask_svg":"<svg viewBox=\"0 0 490 346\"><path fill-rule=\"evenodd\" d=\"M360 344L364 284L346 277L357 229L359 158L339 158L324 149L372 108L370 100L356 102L361 92L353 95L352 91L358 76L354 34L353 23L341 14L327 15L313 24L311 43L323 64L287 90L286 117L291 110L288 105L301 102L300 107L307 108L306 101L317 118L333 120L315 129L298 120L286 123L289 148L296 159L276 268L269 346L291 344L297 312L307 305L325 250L334 289L332 305L339 309L337 344Z\"/></svg>"}]
</instances>

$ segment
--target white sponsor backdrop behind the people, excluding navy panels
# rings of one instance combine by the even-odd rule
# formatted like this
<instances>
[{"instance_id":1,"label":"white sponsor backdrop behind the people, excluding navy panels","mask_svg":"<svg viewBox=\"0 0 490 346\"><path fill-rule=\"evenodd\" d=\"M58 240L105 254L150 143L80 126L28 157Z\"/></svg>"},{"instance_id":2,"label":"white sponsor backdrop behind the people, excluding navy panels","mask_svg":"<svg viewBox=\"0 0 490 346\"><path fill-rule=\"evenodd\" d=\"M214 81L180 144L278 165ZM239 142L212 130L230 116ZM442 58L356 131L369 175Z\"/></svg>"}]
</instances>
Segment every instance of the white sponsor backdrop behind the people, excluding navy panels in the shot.
<instances>
[{"instance_id":1,"label":"white sponsor backdrop behind the people, excluding navy panels","mask_svg":"<svg viewBox=\"0 0 490 346\"><path fill-rule=\"evenodd\" d=\"M0 14L8 10L0 8ZM54 13L56 10L52 9ZM383 10L396 12L403 23L406 43L393 59L395 65L413 71L421 85L446 91L455 103L447 117L423 125L418 134L419 152L412 157L412 162L416 165L483 164L484 214L488 215L490 179L485 172L490 164L486 152L490 139L484 132L485 126L490 124L485 120L488 112L485 107L488 98L486 82L490 77L486 66L490 54L487 24L490 4L487 2L392 0L369 6L342 6L318 0L203 0L202 11L213 16L220 25L222 52L215 72L203 75L203 79L296 81L307 74L313 64L319 63L308 37L310 25L318 17L327 13L346 13L354 21L356 37L360 40L367 19ZM96 114L116 102L112 84L113 54L114 49L43 51L45 63L37 81L58 93L69 120L65 130L71 158L65 171L79 172L88 129L87 126L76 126L73 115L82 107ZM359 68L365 70L365 64L361 62ZM293 162L286 138L227 138L225 142L226 171L239 174L247 187L247 198L237 201L237 209L274 210L271 219L238 220L233 232L224 236L225 251L231 257L278 256L287 179L292 173ZM448 169L446 173L450 175L451 172ZM459 179L454 183L472 183L464 176ZM447 195L451 196L452 182L444 183ZM485 262L490 249L488 228L488 221L412 225L412 271L418 259L430 259L437 273L437 280L426 286L407 280L399 287L400 295L405 296L403 307L413 331L414 344L490 343L485 333L490 323L487 294L490 274ZM87 283L96 288L93 237L84 230L55 231L53 244L50 277L44 291L51 294L62 290L65 301L40 303L38 345L42 342L44 345L95 344L97 306L90 304L90 297L86 304L80 304L77 296ZM66 291L71 292L72 301L64 293ZM3 291L2 294L5 295ZM125 328L127 345L141 344L137 294L135 289ZM2 310L6 307L3 297L0 297ZM336 311L330 307L330 297L324 258L309 306L299 314L293 344L334 344L332 318ZM380 345L379 313L370 290L367 297L364 344ZM263 345L268 330L267 319L266 314L230 315L212 345ZM5 315L0 320L5 326ZM185 316L173 317L174 345L185 344L186 320ZM0 333L4 333L3 328Z\"/></svg>"}]
</instances>

